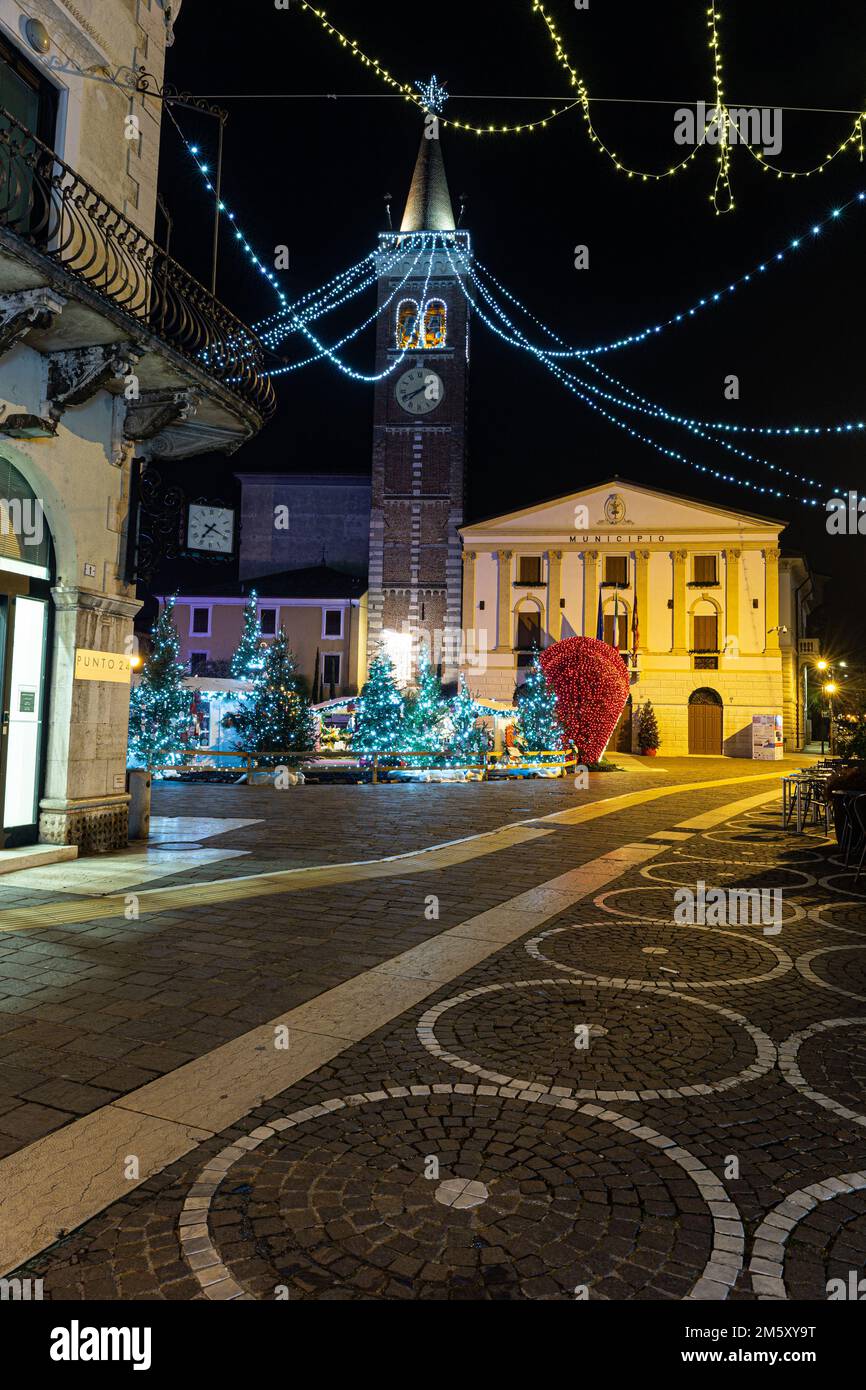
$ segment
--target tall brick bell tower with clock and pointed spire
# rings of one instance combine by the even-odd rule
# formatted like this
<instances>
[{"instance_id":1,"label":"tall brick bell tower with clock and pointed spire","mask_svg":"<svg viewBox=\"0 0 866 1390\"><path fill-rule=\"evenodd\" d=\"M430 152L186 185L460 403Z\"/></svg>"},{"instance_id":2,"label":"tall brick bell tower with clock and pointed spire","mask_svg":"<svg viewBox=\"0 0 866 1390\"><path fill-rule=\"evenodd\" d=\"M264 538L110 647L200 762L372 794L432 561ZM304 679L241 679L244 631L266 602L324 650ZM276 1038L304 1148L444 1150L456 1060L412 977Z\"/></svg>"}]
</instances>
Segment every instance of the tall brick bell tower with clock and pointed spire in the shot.
<instances>
[{"instance_id":1,"label":"tall brick bell tower with clock and pointed spire","mask_svg":"<svg viewBox=\"0 0 866 1390\"><path fill-rule=\"evenodd\" d=\"M375 371L393 370L375 385L367 655L384 641L407 674L411 646L414 676L425 642L452 684L461 649L468 234L456 229L436 132L428 120L400 229L382 234L377 252L385 307Z\"/></svg>"}]
</instances>

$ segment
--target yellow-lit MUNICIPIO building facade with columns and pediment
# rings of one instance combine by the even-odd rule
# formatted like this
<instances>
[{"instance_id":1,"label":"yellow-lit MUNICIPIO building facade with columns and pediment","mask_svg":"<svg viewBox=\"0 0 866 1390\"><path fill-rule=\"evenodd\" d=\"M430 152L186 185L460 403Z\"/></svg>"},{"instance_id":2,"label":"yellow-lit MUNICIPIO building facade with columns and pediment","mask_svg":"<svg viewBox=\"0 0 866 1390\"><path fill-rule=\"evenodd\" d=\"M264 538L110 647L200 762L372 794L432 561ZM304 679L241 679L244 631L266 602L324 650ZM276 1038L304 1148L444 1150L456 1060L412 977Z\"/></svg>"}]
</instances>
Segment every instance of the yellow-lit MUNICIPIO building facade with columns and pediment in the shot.
<instances>
[{"instance_id":1,"label":"yellow-lit MUNICIPIO building facade with columns and pediment","mask_svg":"<svg viewBox=\"0 0 866 1390\"><path fill-rule=\"evenodd\" d=\"M810 587L784 527L619 478L463 527L470 689L512 699L535 645L616 637L630 705L612 749L637 748L648 699L662 753L749 758L755 714L783 716L798 746Z\"/></svg>"}]
</instances>

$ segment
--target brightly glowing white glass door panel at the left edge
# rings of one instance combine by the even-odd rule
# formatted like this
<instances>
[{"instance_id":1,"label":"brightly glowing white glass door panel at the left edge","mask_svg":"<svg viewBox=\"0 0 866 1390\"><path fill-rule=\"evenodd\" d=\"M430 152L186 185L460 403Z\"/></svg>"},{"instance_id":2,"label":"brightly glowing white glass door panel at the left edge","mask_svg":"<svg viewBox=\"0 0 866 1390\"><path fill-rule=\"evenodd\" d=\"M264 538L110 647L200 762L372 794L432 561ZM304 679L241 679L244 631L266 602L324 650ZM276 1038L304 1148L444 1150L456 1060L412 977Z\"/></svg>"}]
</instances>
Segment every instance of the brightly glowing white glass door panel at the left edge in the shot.
<instances>
[{"instance_id":1,"label":"brightly glowing white glass door panel at the left edge","mask_svg":"<svg viewBox=\"0 0 866 1390\"><path fill-rule=\"evenodd\" d=\"M49 605L46 599L17 595L3 599L6 680L0 734L0 788L3 790L3 841L26 844L39 820L42 726Z\"/></svg>"}]
</instances>

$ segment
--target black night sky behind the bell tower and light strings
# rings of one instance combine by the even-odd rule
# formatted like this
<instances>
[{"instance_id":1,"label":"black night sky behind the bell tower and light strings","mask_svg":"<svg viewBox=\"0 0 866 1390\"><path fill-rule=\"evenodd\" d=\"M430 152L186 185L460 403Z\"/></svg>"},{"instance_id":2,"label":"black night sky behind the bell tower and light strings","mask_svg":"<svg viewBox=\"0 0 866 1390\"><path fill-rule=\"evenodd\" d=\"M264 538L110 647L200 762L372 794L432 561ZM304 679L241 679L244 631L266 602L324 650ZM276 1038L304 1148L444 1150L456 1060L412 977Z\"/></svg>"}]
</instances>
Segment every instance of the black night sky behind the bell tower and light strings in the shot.
<instances>
[{"instance_id":1,"label":"black night sky behind the bell tower and light strings","mask_svg":"<svg viewBox=\"0 0 866 1390\"><path fill-rule=\"evenodd\" d=\"M506 96L569 96L546 29L530 0L438 0L407 6L331 0L335 25L395 76L446 82L452 118L518 121L546 103ZM691 104L712 101L705 7L549 0L566 47L595 97ZM214 18L214 13L220 18ZM721 4L724 85L731 106L866 106L862 54L866 7L827 0L820 7L755 0ZM291 250L282 284L300 296L360 260L385 229L384 195L399 225L421 114L384 96L379 79L293 4L271 0L215 6L185 0L167 81L210 96L231 113L225 129L224 197L263 259ZM364 99L286 97L286 93L361 93ZM460 100L459 95L489 97ZM673 106L596 104L607 145L641 168L662 168L673 145ZM215 154L215 122L175 110L189 139ZM780 164L806 168L851 126L842 114L785 111ZM667 409L702 418L755 424L834 423L866 417L863 400L863 231L866 203L831 231L808 229L866 189L856 153L824 175L780 181L746 150L733 152L735 211L719 217L709 195L714 152L659 183L617 174L588 140L580 113L538 133L487 136L445 131L442 149L452 196L466 193L463 225L495 275L535 314L575 343L609 341L688 307L733 277L806 234L803 247L721 307L641 348L607 354L605 370ZM211 203L171 122L163 124L163 196L174 218L172 253L206 282ZM164 224L160 220L158 238ZM574 270L574 247L589 247L589 270ZM275 307L264 281L222 238L220 297L252 322ZM373 311L373 291L348 313L318 325L331 342ZM317 327L317 325L314 325ZM289 359L306 354L293 341ZM357 370L373 370L373 335L346 349ZM740 400L724 399L737 374ZM278 382L279 409L263 434L231 460L192 460L181 468L190 495L227 495L235 471L368 471L373 388L316 364ZM638 425L698 463L758 481L773 474L683 431L638 417ZM866 638L860 600L866 538L827 537L823 502L833 485L866 486L866 435L842 441L759 441L741 448L820 482L822 507L716 484L663 459L575 400L532 357L474 325L470 385L467 517L491 516L578 489L619 473L624 478L745 512L788 518L785 549L801 549L833 577L826 606L827 645L853 656ZM213 569L209 569L213 574Z\"/></svg>"}]
</instances>

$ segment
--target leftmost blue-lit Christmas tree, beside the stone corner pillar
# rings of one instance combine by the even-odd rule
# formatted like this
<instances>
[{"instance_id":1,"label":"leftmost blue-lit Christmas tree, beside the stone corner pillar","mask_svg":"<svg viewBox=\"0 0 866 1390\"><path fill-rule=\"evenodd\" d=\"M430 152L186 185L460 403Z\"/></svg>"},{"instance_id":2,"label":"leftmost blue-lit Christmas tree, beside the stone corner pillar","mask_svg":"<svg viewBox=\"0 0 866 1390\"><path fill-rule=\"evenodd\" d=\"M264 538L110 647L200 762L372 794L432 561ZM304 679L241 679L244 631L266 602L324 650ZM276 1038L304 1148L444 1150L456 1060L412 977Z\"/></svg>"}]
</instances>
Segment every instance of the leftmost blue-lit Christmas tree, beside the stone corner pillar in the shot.
<instances>
[{"instance_id":1,"label":"leftmost blue-lit Christmas tree, beside the stone corner pillar","mask_svg":"<svg viewBox=\"0 0 866 1390\"><path fill-rule=\"evenodd\" d=\"M142 678L129 696L131 767L154 767L181 762L181 742L190 724L189 691L178 660L181 644L170 599L153 628L150 653Z\"/></svg>"}]
</instances>

